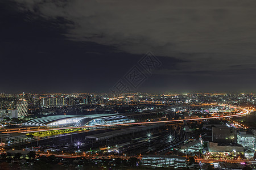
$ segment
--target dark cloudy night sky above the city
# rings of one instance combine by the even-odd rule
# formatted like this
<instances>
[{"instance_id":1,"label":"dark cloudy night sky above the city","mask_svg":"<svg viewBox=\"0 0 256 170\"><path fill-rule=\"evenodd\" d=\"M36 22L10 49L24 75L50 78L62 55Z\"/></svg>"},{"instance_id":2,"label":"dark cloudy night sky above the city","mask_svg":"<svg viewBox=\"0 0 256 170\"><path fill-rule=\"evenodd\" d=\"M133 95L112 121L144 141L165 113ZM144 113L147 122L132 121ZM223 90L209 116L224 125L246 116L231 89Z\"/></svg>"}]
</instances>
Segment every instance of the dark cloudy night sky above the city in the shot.
<instances>
[{"instance_id":1,"label":"dark cloudy night sky above the city","mask_svg":"<svg viewBox=\"0 0 256 170\"><path fill-rule=\"evenodd\" d=\"M0 1L0 93L256 92L256 1Z\"/></svg>"}]
</instances>

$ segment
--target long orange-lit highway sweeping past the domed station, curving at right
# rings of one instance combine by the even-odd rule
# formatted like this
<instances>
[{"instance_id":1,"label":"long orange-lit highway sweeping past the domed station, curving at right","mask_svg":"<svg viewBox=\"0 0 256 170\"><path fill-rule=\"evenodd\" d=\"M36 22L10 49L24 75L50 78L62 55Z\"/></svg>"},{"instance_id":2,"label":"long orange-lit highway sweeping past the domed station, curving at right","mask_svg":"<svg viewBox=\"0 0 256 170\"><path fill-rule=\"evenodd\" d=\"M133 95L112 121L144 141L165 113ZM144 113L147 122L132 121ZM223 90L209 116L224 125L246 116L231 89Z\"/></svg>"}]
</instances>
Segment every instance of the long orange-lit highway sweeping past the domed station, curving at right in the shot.
<instances>
[{"instance_id":1,"label":"long orange-lit highway sweeping past the domed station, curving at right","mask_svg":"<svg viewBox=\"0 0 256 170\"><path fill-rule=\"evenodd\" d=\"M233 107L233 106L230 106ZM115 125L95 125L95 126L81 126L81 127L69 127L69 128L51 128L51 129L42 129L42 130L31 130L31 131L12 131L18 132L18 133L35 133L40 131L53 131L53 130L67 130L67 129L88 129L88 128L107 128L107 127L114 127L114 126L131 126L131 125L145 125L145 124L160 124L160 123L174 123L174 122L183 122L183 121L197 121L197 120L208 120L208 119L214 119L214 118L228 118L228 117L235 117L235 116L243 116L245 114L248 114L250 111L247 109L243 109L240 107L236 107L237 109L240 109L241 112L238 114L232 114L227 116L216 116L216 117L204 117L204 118L190 118L190 119L183 119L183 120L169 120L169 121L155 121L155 122L136 122L136 123L129 123L129 124L115 124ZM170 109L167 109L168 111Z\"/></svg>"}]
</instances>

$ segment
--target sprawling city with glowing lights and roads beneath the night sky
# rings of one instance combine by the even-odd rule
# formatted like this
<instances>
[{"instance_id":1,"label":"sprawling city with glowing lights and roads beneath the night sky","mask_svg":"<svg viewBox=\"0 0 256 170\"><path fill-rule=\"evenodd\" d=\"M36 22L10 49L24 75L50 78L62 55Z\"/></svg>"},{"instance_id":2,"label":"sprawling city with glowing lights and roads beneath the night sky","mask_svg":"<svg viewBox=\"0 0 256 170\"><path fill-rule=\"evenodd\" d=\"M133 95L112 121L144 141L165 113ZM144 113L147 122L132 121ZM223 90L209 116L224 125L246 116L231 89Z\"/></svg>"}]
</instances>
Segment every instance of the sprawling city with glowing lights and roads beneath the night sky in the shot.
<instances>
[{"instance_id":1,"label":"sprawling city with glowing lights and roads beneath the night sky","mask_svg":"<svg viewBox=\"0 0 256 170\"><path fill-rule=\"evenodd\" d=\"M255 102L255 94L1 94L0 167L15 159L20 169L253 168Z\"/></svg>"}]
</instances>

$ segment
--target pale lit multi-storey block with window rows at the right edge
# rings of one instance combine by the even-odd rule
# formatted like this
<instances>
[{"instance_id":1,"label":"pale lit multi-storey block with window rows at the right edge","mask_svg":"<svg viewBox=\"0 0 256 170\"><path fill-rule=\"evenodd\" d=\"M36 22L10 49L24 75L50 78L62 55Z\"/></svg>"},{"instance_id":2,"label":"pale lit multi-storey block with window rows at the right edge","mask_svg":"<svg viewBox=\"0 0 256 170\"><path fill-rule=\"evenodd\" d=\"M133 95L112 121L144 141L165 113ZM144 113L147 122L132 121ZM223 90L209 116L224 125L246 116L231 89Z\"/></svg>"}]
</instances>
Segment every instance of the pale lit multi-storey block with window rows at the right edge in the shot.
<instances>
[{"instance_id":1,"label":"pale lit multi-storey block with window rows at the right edge","mask_svg":"<svg viewBox=\"0 0 256 170\"><path fill-rule=\"evenodd\" d=\"M237 143L245 148L255 150L255 137L254 134L245 130L240 130L237 133Z\"/></svg>"}]
</instances>

